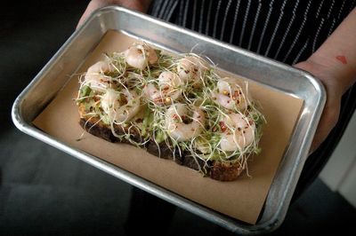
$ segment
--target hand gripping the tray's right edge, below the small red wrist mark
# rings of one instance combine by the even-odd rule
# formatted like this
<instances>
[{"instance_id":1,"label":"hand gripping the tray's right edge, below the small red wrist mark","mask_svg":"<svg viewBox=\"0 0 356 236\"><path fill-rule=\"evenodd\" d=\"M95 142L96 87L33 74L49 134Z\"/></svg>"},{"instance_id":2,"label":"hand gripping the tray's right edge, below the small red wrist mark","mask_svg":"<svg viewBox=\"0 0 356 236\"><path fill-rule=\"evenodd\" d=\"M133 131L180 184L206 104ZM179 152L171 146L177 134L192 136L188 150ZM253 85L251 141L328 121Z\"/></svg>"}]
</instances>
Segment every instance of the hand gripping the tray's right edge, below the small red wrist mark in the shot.
<instances>
[{"instance_id":1,"label":"hand gripping the tray's right edge, below the small red wrist mark","mask_svg":"<svg viewBox=\"0 0 356 236\"><path fill-rule=\"evenodd\" d=\"M340 114L341 98L344 90L342 86L337 83L337 75L334 75L332 67L323 65L320 61L315 59L308 59L294 67L303 69L316 78L324 85L327 91L327 102L320 117L318 128L312 140L312 146L309 153L313 153L320 144L328 137L330 131L335 127Z\"/></svg>"}]
</instances>

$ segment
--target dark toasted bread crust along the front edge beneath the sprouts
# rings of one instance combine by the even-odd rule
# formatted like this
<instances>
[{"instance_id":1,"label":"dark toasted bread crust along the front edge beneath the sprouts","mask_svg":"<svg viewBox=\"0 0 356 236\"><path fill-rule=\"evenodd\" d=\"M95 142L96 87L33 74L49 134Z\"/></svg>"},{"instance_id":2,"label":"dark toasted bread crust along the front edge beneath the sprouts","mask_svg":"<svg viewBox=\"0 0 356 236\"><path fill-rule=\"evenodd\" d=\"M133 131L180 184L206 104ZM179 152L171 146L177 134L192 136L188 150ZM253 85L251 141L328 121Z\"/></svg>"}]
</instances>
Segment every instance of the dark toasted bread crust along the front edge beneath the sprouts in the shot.
<instances>
[{"instance_id":1,"label":"dark toasted bread crust along the front edge beneath the sprouts","mask_svg":"<svg viewBox=\"0 0 356 236\"><path fill-rule=\"evenodd\" d=\"M98 118L85 118L85 115L81 115L80 126L87 132L92 135L103 138L111 143L129 143L127 140L117 138L113 135L110 127L104 122L100 122ZM115 132L118 135L127 133L127 130L124 127L114 125ZM139 142L141 137L137 130L130 130L132 138L134 141ZM158 156L164 159L170 159L175 161L177 164L186 166L190 169L202 170L204 169L206 175L219 181L233 181L236 180L240 173L242 172L242 168L239 166L238 162L232 161L208 161L207 165L205 161L200 159L195 159L190 156L190 153L172 153L172 150L166 145L166 143L161 143L158 145L154 141L150 141L144 146L147 152ZM159 149L158 149L159 148Z\"/></svg>"}]
</instances>

